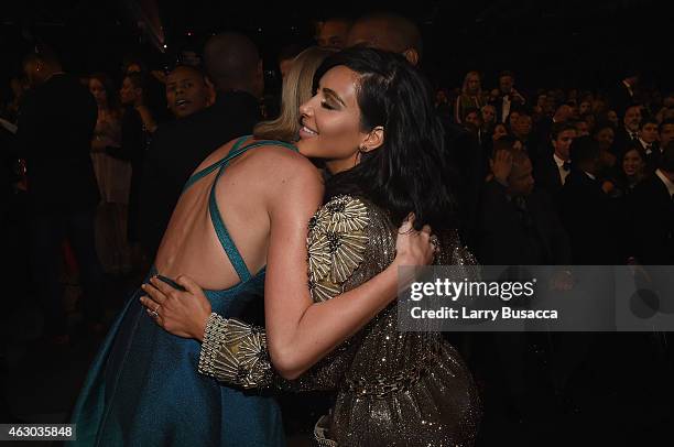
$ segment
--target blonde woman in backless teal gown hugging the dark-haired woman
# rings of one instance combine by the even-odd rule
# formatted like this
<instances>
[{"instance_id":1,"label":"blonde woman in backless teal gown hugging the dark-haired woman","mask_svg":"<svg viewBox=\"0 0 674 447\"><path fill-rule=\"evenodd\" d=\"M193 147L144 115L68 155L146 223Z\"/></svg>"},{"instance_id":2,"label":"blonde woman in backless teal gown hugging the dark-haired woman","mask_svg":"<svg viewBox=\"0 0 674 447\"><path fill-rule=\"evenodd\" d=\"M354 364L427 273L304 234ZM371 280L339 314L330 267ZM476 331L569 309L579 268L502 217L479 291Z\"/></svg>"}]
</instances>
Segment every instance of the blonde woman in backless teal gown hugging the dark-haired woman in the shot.
<instances>
[{"instance_id":1,"label":"blonde woman in backless teal gown hugging the dark-haired woman","mask_svg":"<svg viewBox=\"0 0 674 447\"><path fill-rule=\"evenodd\" d=\"M296 105L311 96L313 72L323 57L312 51L296 61L284 85L284 106L291 106L283 113L294 109L297 116ZM283 115L278 122L297 126ZM270 133L269 126L263 130L263 137ZM187 182L148 280L161 273L180 287L170 277L189 275L205 288L214 312L227 318L239 316L264 292L268 312L278 309L267 319L270 341L276 341L269 346L272 361L282 375L295 378L395 298L398 265L428 263L433 253L428 228L403 232L391 269L363 290L345 294L350 299L314 305L306 290L304 242L306 221L322 196L318 172L293 145L254 138L228 143ZM91 366L72 417L77 443L284 445L274 400L198 374L196 337L164 331L154 320L162 320L161 309L145 312L142 294L139 290L129 299ZM326 335L325 327L334 330ZM198 330L204 334L204 327Z\"/></svg>"}]
</instances>

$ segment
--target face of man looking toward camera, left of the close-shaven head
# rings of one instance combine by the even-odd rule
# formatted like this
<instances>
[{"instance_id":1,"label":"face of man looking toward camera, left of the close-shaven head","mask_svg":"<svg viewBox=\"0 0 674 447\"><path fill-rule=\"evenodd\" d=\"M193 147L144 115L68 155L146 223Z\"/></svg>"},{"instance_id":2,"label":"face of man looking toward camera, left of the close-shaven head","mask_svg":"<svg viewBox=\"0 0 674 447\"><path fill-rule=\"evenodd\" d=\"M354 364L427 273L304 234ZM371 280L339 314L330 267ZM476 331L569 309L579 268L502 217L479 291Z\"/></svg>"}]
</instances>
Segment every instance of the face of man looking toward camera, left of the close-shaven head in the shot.
<instances>
[{"instance_id":1,"label":"face of man looking toward camera, left of the close-shaven head","mask_svg":"<svg viewBox=\"0 0 674 447\"><path fill-rule=\"evenodd\" d=\"M208 94L204 76L192 68L177 67L166 76L166 103L176 118L205 109Z\"/></svg>"}]
</instances>

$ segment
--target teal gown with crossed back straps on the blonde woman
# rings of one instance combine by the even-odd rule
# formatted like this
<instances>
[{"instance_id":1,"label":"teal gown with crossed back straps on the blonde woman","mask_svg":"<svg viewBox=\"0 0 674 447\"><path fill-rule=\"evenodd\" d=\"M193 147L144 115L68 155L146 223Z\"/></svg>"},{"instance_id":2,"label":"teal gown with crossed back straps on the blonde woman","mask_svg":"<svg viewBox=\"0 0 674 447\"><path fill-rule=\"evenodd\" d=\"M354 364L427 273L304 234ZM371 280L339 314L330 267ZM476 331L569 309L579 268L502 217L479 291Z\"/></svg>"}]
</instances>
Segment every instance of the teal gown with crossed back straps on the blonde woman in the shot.
<instances>
[{"instance_id":1,"label":"teal gown with crossed back straps on the blonde woman","mask_svg":"<svg viewBox=\"0 0 674 447\"><path fill-rule=\"evenodd\" d=\"M209 195L213 225L240 282L224 291L205 291L213 312L237 317L251 299L263 296L264 270L248 271L215 199L215 185L228 163L265 144L237 141L219 162L194 174L185 189L219 170ZM151 275L157 272L153 269ZM275 400L218 383L197 372L200 345L173 336L148 315L139 288L112 325L85 380L72 415L81 446L284 446Z\"/></svg>"}]
</instances>

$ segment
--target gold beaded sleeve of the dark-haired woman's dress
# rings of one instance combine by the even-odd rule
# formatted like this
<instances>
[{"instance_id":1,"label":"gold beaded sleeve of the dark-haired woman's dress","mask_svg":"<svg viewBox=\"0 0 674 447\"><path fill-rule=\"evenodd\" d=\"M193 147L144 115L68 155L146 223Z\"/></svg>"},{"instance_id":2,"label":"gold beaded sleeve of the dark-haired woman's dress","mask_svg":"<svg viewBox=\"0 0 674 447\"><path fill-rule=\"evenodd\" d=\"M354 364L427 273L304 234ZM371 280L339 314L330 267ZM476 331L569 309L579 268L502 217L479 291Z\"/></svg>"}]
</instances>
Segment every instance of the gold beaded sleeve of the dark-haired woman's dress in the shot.
<instances>
[{"instance_id":1,"label":"gold beaded sleeve of the dark-haired woman's dress","mask_svg":"<svg viewBox=\"0 0 674 447\"><path fill-rule=\"evenodd\" d=\"M308 288L320 303L339 295L343 284L360 266L368 243L366 205L339 196L324 205L308 224ZM263 328L211 314L199 356L200 373L243 389L284 391L334 390L348 369L356 344L347 340L296 380L273 371Z\"/></svg>"}]
</instances>

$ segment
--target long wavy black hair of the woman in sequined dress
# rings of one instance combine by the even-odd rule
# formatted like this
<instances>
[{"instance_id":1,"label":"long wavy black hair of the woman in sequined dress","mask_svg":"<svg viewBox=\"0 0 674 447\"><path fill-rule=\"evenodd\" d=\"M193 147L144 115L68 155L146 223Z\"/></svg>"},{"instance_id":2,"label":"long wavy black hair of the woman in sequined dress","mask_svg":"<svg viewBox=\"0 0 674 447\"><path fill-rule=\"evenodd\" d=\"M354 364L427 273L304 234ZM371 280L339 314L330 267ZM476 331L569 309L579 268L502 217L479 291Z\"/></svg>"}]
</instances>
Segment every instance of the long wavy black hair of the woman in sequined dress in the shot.
<instances>
[{"instance_id":1,"label":"long wavy black hair of the woman in sequined dress","mask_svg":"<svg viewBox=\"0 0 674 447\"><path fill-rule=\"evenodd\" d=\"M389 210L395 225L413 211L416 229L426 224L434 231L448 228L456 201L445 167L445 134L430 85L401 55L362 47L328 57L315 79L340 65L360 75L361 129L383 127L384 143L362 153L355 167L330 177L326 199L361 195Z\"/></svg>"}]
</instances>

